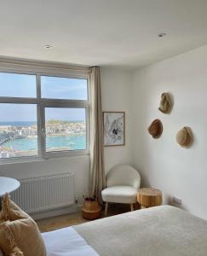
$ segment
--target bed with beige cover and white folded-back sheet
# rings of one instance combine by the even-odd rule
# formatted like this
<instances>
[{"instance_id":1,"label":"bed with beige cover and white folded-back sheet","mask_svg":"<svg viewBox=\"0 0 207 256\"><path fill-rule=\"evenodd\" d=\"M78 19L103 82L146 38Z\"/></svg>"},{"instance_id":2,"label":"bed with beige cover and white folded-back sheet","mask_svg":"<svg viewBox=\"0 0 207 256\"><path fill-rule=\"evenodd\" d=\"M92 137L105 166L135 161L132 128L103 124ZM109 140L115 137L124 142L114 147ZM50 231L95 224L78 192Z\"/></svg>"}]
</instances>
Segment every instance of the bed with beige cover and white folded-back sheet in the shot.
<instances>
[{"instance_id":1,"label":"bed with beige cover and white folded-back sheet","mask_svg":"<svg viewBox=\"0 0 207 256\"><path fill-rule=\"evenodd\" d=\"M161 206L43 233L47 256L206 256L207 221Z\"/></svg>"}]
</instances>

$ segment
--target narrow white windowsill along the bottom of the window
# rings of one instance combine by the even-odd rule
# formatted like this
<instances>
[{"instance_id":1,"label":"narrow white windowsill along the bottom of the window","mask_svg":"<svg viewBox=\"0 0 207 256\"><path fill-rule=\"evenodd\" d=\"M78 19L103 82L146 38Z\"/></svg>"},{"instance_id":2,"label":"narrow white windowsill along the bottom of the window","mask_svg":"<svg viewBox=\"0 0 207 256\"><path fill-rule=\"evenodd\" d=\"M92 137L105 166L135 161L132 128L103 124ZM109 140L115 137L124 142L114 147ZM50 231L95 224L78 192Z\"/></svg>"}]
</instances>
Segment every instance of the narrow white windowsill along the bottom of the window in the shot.
<instances>
[{"instance_id":1,"label":"narrow white windowsill along the bottom of the window","mask_svg":"<svg viewBox=\"0 0 207 256\"><path fill-rule=\"evenodd\" d=\"M89 151L85 150L82 152L70 152L67 154L51 154L49 153L45 158L33 156L33 157L22 157L22 158L12 158L12 159L2 159L0 160L0 166L3 165L14 165L14 164L20 164L20 163L33 163L33 162L41 162L45 160L61 160L71 157L83 157L83 156L89 156Z\"/></svg>"}]
</instances>

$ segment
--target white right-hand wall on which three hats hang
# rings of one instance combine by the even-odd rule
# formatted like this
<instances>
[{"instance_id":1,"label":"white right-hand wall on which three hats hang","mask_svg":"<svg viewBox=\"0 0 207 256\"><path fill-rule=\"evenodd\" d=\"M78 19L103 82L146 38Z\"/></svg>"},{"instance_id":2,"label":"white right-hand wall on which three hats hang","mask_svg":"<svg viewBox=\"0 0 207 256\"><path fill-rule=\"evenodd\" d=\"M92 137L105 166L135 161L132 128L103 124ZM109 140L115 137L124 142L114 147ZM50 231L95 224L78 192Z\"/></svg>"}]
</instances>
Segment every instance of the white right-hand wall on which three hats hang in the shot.
<instances>
[{"instance_id":1,"label":"white right-hand wall on which three hats hang","mask_svg":"<svg viewBox=\"0 0 207 256\"><path fill-rule=\"evenodd\" d=\"M162 92L174 96L170 114L158 111ZM207 46L135 72L132 95L133 162L142 184L162 189L164 203L181 197L183 208L207 219ZM164 131L155 140L147 127L157 118ZM194 135L189 149L175 141L185 125Z\"/></svg>"}]
</instances>

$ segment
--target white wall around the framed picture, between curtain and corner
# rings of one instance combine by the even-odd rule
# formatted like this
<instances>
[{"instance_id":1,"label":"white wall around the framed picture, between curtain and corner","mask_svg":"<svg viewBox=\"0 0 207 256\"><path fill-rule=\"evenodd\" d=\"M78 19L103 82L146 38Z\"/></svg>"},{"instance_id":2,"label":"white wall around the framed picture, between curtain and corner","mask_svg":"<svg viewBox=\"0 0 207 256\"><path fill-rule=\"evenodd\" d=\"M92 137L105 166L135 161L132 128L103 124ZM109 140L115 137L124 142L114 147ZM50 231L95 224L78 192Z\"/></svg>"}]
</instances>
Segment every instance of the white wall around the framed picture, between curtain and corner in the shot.
<instances>
[{"instance_id":1,"label":"white wall around the framed picture, between curtain and corner","mask_svg":"<svg viewBox=\"0 0 207 256\"><path fill-rule=\"evenodd\" d=\"M125 146L105 148L105 168L108 172L112 166L131 164L132 162L132 73L112 68L101 68L101 93L103 111L125 111Z\"/></svg>"}]
</instances>

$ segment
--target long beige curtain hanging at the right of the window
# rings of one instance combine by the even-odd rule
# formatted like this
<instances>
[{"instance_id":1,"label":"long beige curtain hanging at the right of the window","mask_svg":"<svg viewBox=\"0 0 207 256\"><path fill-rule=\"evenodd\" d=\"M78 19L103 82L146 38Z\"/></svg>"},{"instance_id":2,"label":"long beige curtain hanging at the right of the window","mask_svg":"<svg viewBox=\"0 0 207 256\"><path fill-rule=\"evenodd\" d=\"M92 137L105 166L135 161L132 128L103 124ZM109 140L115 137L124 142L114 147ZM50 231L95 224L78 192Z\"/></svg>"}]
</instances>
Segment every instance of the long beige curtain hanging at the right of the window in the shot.
<instances>
[{"instance_id":1,"label":"long beige curtain hanging at the right of the window","mask_svg":"<svg viewBox=\"0 0 207 256\"><path fill-rule=\"evenodd\" d=\"M98 196L106 187L103 152L103 124L101 108L100 68L90 67L90 172L89 194Z\"/></svg>"}]
</instances>

